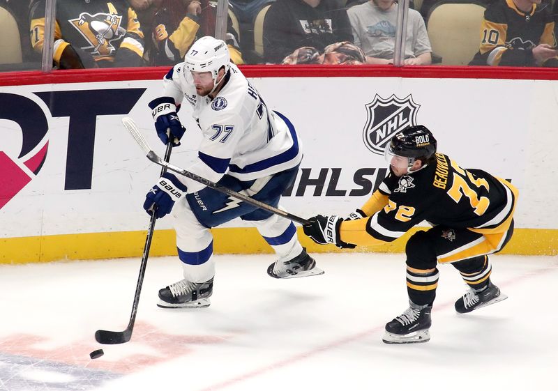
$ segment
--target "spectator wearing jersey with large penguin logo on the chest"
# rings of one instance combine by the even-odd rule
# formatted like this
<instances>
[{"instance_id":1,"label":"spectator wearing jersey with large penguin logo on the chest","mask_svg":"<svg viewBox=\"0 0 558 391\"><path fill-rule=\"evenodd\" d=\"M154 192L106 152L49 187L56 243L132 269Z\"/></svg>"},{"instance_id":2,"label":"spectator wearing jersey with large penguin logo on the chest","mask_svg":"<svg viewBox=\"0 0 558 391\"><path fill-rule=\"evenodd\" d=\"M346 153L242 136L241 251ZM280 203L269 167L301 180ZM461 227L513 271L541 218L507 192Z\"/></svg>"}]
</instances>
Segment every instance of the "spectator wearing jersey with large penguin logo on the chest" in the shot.
<instances>
[{"instance_id":1,"label":"spectator wearing jersey with large penguin logo on the chest","mask_svg":"<svg viewBox=\"0 0 558 391\"><path fill-rule=\"evenodd\" d=\"M45 0L31 3L31 45L41 53ZM142 66L144 35L126 0L56 1L54 65L59 69Z\"/></svg>"}]
</instances>

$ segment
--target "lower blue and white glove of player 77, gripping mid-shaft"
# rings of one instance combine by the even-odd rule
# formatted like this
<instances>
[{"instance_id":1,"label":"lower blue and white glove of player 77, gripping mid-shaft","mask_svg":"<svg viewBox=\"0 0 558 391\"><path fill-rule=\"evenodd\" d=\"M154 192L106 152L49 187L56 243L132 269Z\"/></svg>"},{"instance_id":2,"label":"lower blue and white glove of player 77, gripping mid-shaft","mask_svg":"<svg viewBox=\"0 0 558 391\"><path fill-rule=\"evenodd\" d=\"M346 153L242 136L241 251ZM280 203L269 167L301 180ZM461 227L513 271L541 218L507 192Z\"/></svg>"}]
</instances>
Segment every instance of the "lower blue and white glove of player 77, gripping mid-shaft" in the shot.
<instances>
[{"instance_id":1,"label":"lower blue and white glove of player 77, gripping mid-shaft","mask_svg":"<svg viewBox=\"0 0 558 391\"><path fill-rule=\"evenodd\" d=\"M170 213L174 201L182 197L184 192L186 186L176 176L166 172L146 194L144 209L148 215L151 215L152 210L155 209L156 216L160 219Z\"/></svg>"}]
</instances>

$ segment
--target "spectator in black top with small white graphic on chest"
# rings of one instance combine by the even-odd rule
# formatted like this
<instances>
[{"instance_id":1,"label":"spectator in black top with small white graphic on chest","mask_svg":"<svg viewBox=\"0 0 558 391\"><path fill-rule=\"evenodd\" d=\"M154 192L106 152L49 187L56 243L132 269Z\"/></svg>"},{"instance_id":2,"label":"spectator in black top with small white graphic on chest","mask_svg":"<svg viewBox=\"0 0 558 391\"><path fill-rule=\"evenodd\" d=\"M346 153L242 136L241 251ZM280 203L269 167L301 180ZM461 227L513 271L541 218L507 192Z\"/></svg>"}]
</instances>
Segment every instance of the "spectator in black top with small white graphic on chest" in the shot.
<instances>
[{"instance_id":1,"label":"spectator in black top with small white graphic on chest","mask_svg":"<svg viewBox=\"0 0 558 391\"><path fill-rule=\"evenodd\" d=\"M347 10L338 0L277 0L264 20L264 61L281 63L302 48L323 53L328 45L352 40Z\"/></svg>"}]
</instances>

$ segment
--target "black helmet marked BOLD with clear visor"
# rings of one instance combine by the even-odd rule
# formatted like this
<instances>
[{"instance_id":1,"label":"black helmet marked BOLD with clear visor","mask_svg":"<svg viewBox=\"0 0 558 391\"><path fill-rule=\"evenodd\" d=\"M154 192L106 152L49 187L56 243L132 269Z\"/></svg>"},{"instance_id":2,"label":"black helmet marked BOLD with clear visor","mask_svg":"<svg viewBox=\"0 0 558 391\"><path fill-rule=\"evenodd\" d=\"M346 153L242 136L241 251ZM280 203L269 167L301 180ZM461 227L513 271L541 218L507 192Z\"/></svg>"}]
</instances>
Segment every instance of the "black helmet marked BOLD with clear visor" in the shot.
<instances>
[{"instance_id":1,"label":"black helmet marked BOLD with clear visor","mask_svg":"<svg viewBox=\"0 0 558 391\"><path fill-rule=\"evenodd\" d=\"M396 133L386 148L390 155L428 162L436 153L437 141L424 125L412 125Z\"/></svg>"}]
</instances>

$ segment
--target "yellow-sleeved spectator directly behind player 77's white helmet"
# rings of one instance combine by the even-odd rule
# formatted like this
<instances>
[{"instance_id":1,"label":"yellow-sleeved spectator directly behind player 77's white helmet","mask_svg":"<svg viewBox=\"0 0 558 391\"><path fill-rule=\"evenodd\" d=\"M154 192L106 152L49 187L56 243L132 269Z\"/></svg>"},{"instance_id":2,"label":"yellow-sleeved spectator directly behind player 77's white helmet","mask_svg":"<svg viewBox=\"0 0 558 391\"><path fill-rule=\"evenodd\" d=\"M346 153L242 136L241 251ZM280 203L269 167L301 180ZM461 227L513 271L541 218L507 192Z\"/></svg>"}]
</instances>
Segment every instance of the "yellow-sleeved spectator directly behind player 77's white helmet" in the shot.
<instances>
[{"instance_id":1,"label":"yellow-sleeved spectator directly behind player 77's white helmet","mask_svg":"<svg viewBox=\"0 0 558 391\"><path fill-rule=\"evenodd\" d=\"M153 19L152 40L155 46L149 53L156 66L172 66L181 61L194 41L201 36L215 35L216 7L202 8L197 0L156 0L159 4ZM209 1L207 2L208 4ZM228 17L225 37L231 61L243 64L239 36Z\"/></svg>"}]
</instances>

